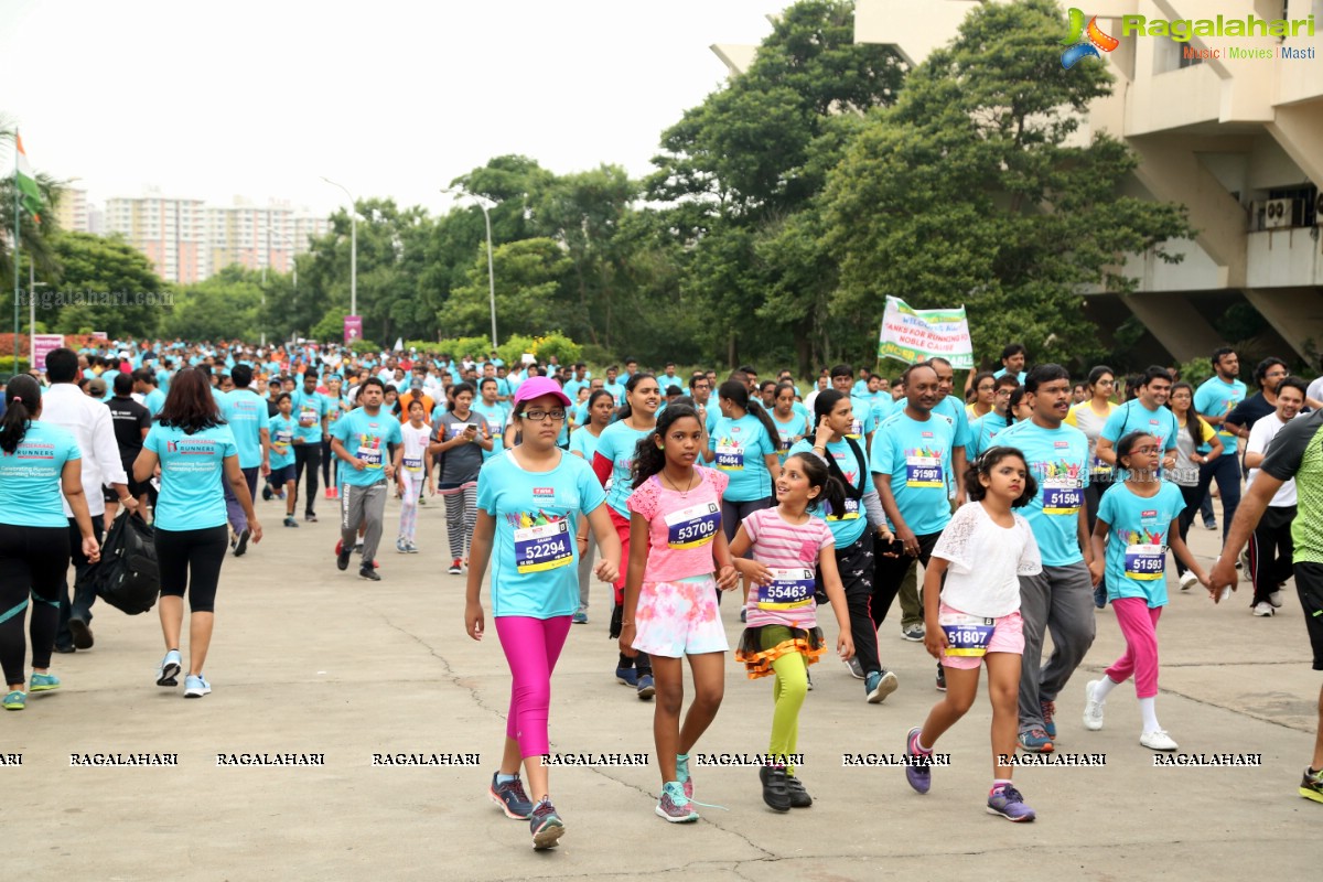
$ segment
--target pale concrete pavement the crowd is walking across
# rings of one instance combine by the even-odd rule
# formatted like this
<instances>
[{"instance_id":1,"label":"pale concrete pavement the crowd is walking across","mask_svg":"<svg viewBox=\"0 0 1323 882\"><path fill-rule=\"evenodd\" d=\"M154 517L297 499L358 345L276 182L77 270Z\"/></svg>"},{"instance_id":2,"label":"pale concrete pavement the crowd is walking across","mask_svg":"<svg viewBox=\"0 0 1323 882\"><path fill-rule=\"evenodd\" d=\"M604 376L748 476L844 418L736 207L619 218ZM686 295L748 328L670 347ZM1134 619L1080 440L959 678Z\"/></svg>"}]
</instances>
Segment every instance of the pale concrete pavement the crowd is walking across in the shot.
<instances>
[{"instance_id":1,"label":"pale concrete pavement the crowd is walking across","mask_svg":"<svg viewBox=\"0 0 1323 882\"><path fill-rule=\"evenodd\" d=\"M1084 684L1122 649L1110 608L1098 640L1058 702L1058 752L1102 754L1105 767L1025 768L1019 787L1039 820L986 815L990 710L980 703L941 747L927 796L901 768L847 768L844 754L898 754L905 731L937 700L919 644L882 629L884 664L900 690L881 706L843 665L815 666L800 722L800 778L816 804L766 809L751 768L699 768L697 825L652 813L660 788L651 703L614 682L594 587L593 621L576 627L556 672L553 750L648 754L646 767L556 770L568 832L534 853L528 828L487 801L499 759L509 678L492 631L463 633L463 578L446 575L439 505L423 508L417 555L393 542L382 582L339 573L335 509L282 529L259 509L267 540L229 559L208 664L214 693L184 701L155 685L155 614L98 606L97 645L56 657L60 692L0 717L0 817L13 879L511 879L511 878L1299 878L1316 871L1308 837L1323 807L1295 787L1314 742L1318 674L1299 603L1252 618L1248 595L1215 608L1203 591L1172 591L1162 619L1159 715L1181 752L1261 754L1258 768L1155 768L1138 743L1132 688L1109 702L1106 729L1080 723ZM280 509L283 512L283 508ZM388 524L396 518L388 506ZM388 537L393 532L388 530ZM1195 528L1200 555L1215 536ZM1245 603L1240 600L1245 598ZM490 604L488 604L490 610ZM732 644L734 604L724 610ZM185 649L187 657L187 649ZM726 698L700 744L766 750L771 686L728 664ZM177 754L172 767L71 767L70 754ZM321 754L324 766L218 766L217 755ZM390 767L374 754L478 754L476 767ZM995 867L995 869L994 869ZM684 873L683 877L679 873ZM918 874L918 875L914 875Z\"/></svg>"}]
</instances>

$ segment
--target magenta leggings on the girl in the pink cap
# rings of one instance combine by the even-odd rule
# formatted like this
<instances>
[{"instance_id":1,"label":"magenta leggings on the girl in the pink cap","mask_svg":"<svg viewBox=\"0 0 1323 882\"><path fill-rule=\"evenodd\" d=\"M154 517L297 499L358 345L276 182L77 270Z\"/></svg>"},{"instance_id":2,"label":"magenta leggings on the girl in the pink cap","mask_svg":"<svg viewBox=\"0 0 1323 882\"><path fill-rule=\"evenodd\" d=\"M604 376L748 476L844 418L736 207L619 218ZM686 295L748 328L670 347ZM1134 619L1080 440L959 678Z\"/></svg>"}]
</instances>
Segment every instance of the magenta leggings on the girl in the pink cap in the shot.
<instances>
[{"instance_id":1,"label":"magenta leggings on the girl in the pink cap","mask_svg":"<svg viewBox=\"0 0 1323 882\"><path fill-rule=\"evenodd\" d=\"M509 693L505 734L519 742L520 756L549 752L546 714L552 703L552 672L570 632L570 616L532 619L497 616L496 636L515 678Z\"/></svg>"}]
</instances>

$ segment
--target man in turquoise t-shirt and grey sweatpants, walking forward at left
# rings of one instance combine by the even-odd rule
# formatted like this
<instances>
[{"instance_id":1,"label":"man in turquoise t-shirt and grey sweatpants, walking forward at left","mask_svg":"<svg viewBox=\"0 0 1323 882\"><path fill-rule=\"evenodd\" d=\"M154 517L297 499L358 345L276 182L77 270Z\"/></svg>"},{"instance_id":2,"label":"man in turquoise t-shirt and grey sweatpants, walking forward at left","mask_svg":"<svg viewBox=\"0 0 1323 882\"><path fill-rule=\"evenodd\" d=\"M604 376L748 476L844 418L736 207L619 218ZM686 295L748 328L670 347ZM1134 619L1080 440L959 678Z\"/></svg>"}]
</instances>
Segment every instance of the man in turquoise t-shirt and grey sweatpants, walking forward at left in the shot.
<instances>
[{"instance_id":1,"label":"man in turquoise t-shirt and grey sweatpants, walking forward at left","mask_svg":"<svg viewBox=\"0 0 1323 882\"><path fill-rule=\"evenodd\" d=\"M381 407L385 398L385 383L376 377L368 377L359 387L359 407L340 418L331 438L331 452L345 463L340 468L344 495L340 497L340 547L336 551L336 566L341 570L349 569L349 555L353 554L359 526L366 524L359 577L372 582L381 581L374 558L377 545L381 542L386 493L405 450L400 421Z\"/></svg>"}]
</instances>

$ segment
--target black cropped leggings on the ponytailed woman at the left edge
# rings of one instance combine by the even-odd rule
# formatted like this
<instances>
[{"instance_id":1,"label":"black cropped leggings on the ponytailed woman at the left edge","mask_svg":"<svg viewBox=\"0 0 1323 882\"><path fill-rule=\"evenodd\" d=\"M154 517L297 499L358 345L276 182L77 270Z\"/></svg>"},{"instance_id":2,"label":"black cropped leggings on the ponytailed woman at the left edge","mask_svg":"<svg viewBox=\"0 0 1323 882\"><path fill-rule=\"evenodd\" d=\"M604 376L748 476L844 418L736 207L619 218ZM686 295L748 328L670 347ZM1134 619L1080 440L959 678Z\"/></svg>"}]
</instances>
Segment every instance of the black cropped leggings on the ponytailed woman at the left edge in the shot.
<instances>
[{"instance_id":1,"label":"black cropped leggings on the ponytailed woman at the left edge","mask_svg":"<svg viewBox=\"0 0 1323 882\"><path fill-rule=\"evenodd\" d=\"M30 595L32 666L49 668L60 625L60 591L69 570L67 526L12 526L0 524L0 666L5 682L21 686L22 633Z\"/></svg>"}]
</instances>

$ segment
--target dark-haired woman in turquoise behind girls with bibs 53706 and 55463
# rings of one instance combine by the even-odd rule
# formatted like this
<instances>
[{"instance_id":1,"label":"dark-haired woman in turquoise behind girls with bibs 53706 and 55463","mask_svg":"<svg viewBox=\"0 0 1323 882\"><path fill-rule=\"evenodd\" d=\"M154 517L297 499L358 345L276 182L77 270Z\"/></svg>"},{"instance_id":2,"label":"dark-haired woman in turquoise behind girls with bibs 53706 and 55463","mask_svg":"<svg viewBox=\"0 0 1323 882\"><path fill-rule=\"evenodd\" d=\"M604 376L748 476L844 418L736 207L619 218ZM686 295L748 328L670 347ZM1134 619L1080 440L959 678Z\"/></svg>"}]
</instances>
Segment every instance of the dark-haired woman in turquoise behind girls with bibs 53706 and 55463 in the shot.
<instances>
[{"instance_id":1,"label":"dark-haired woman in turquoise behind girls with bibs 53706 and 55463","mask_svg":"<svg viewBox=\"0 0 1323 882\"><path fill-rule=\"evenodd\" d=\"M721 419L706 439L704 459L730 480L721 497L721 529L730 541L745 517L771 505L771 475L781 469L781 432L738 380L721 383L717 401Z\"/></svg>"}]
</instances>

